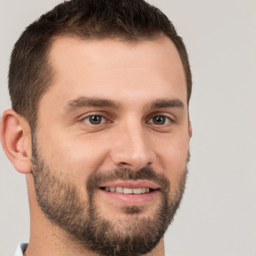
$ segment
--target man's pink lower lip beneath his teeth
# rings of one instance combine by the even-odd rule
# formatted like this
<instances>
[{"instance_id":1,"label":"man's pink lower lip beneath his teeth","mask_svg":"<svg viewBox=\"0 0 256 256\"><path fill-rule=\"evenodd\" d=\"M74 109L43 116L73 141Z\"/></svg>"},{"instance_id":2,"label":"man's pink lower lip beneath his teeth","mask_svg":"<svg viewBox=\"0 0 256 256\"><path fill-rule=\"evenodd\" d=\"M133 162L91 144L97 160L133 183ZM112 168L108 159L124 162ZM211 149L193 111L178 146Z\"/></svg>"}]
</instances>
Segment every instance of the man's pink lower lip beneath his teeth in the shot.
<instances>
[{"instance_id":1,"label":"man's pink lower lip beneath his teeth","mask_svg":"<svg viewBox=\"0 0 256 256\"><path fill-rule=\"evenodd\" d=\"M142 194L124 194L110 192L103 189L99 189L99 192L106 197L106 200L116 201L123 205L133 206L133 205L143 205L154 199L155 196L159 194L159 190L155 189L148 193Z\"/></svg>"}]
</instances>

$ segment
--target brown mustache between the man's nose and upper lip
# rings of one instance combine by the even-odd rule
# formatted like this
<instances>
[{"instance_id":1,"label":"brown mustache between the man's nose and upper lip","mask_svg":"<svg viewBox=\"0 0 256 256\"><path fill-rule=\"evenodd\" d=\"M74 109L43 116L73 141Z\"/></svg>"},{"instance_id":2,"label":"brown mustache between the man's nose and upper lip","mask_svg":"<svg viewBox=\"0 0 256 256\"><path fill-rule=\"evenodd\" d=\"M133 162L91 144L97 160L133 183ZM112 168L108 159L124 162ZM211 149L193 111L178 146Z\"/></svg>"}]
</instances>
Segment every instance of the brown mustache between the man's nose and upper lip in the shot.
<instances>
[{"instance_id":1,"label":"brown mustache between the man's nose and upper lip","mask_svg":"<svg viewBox=\"0 0 256 256\"><path fill-rule=\"evenodd\" d=\"M91 193L102 183L115 180L148 180L156 183L163 190L169 190L170 182L163 173L157 173L151 167L143 167L137 171L129 168L117 167L111 171L97 171L88 177L87 191Z\"/></svg>"}]
</instances>

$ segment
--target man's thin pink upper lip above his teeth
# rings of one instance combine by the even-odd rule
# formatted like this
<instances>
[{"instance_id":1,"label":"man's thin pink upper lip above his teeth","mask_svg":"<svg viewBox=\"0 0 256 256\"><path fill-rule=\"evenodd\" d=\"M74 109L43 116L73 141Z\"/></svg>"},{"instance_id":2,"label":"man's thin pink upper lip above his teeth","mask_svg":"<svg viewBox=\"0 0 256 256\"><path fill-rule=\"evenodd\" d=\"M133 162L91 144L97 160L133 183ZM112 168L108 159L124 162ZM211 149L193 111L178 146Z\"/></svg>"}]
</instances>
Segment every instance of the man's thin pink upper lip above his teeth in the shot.
<instances>
[{"instance_id":1,"label":"man's thin pink upper lip above his teeth","mask_svg":"<svg viewBox=\"0 0 256 256\"><path fill-rule=\"evenodd\" d=\"M127 187L127 188L148 187L151 189L159 188L159 185L147 180L119 180L119 181L116 180L116 181L106 182L100 185L100 187L105 187L105 186L109 186L109 187L121 186L121 187Z\"/></svg>"}]
</instances>

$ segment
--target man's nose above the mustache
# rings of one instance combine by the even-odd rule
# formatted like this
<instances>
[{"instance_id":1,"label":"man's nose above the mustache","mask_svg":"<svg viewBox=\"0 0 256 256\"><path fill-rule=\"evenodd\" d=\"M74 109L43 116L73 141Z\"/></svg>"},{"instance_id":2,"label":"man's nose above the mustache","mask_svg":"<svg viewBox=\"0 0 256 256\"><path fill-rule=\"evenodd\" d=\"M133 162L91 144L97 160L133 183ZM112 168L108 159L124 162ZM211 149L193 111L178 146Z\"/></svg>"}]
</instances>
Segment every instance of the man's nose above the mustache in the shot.
<instances>
[{"instance_id":1,"label":"man's nose above the mustache","mask_svg":"<svg viewBox=\"0 0 256 256\"><path fill-rule=\"evenodd\" d=\"M119 167L139 170L152 164L155 154L150 146L149 134L141 124L129 123L115 131L111 160Z\"/></svg>"}]
</instances>

